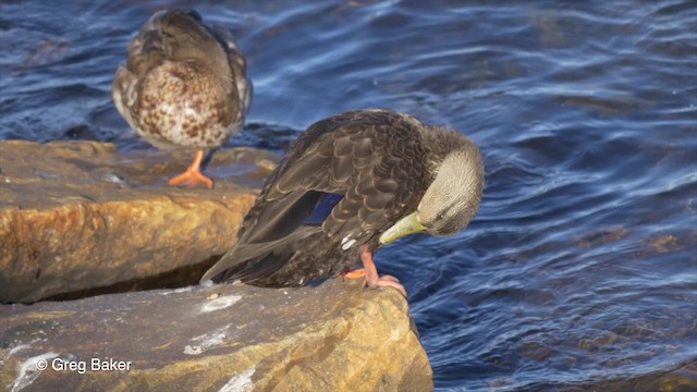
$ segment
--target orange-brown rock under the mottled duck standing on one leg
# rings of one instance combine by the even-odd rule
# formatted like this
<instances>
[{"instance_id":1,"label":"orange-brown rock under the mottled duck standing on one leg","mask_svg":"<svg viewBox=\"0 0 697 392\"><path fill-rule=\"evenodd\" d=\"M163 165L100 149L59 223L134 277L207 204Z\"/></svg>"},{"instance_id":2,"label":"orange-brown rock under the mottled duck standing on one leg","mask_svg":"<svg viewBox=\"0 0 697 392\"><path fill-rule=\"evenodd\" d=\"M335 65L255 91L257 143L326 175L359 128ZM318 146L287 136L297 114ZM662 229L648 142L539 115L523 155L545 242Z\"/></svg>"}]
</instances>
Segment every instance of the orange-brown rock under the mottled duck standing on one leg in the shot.
<instances>
[{"instance_id":1,"label":"orange-brown rock under the mottled duck standing on one leg","mask_svg":"<svg viewBox=\"0 0 697 392\"><path fill-rule=\"evenodd\" d=\"M191 284L230 249L276 156L217 151L212 191L167 181L191 157L93 142L0 143L0 302Z\"/></svg>"}]
</instances>

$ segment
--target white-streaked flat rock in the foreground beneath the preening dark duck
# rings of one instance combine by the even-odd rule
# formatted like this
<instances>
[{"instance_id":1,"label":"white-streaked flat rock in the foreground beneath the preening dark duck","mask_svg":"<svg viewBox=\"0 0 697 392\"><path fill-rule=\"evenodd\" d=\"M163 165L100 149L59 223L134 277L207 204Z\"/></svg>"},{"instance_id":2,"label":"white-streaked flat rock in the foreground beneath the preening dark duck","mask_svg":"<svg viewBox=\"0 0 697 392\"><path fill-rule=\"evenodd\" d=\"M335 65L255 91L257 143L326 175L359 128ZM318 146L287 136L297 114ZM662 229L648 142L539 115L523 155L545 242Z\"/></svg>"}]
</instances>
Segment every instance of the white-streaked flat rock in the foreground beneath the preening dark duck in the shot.
<instances>
[{"instance_id":1,"label":"white-streaked flat rock in the foreground beneath the preening dark duck","mask_svg":"<svg viewBox=\"0 0 697 392\"><path fill-rule=\"evenodd\" d=\"M0 388L12 391L433 388L405 298L355 281L192 286L0 314Z\"/></svg>"}]
</instances>

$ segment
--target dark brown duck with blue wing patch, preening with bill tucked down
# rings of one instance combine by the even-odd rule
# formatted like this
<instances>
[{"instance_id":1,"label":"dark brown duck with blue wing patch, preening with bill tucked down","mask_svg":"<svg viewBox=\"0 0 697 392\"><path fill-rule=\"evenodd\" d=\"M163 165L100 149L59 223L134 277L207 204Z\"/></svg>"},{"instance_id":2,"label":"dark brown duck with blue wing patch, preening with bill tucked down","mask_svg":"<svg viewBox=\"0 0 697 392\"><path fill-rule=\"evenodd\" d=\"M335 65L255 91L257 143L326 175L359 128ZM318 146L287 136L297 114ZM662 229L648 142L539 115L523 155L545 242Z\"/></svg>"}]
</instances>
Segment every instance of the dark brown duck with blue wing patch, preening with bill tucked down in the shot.
<instances>
[{"instance_id":1,"label":"dark brown duck with blue wing patch, preening with bill tucked down","mask_svg":"<svg viewBox=\"0 0 697 392\"><path fill-rule=\"evenodd\" d=\"M362 260L368 286L406 296L372 254L408 234L460 232L482 189L481 155L463 134L390 110L338 114L298 137L201 281L299 286Z\"/></svg>"}]
</instances>

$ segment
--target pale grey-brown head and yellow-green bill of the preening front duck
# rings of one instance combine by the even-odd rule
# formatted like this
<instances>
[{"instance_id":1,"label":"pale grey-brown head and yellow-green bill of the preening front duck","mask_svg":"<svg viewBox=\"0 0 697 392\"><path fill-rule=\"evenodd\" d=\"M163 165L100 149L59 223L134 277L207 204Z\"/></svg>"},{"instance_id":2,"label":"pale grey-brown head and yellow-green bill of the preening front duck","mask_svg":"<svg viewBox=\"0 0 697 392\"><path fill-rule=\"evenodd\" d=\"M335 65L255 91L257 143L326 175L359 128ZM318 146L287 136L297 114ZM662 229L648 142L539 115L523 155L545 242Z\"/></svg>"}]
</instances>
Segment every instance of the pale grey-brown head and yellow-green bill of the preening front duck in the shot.
<instances>
[{"instance_id":1,"label":"pale grey-brown head and yellow-green bill of the preening front duck","mask_svg":"<svg viewBox=\"0 0 697 392\"><path fill-rule=\"evenodd\" d=\"M418 208L400 219L380 236L392 243L415 233L448 236L464 230L479 209L484 189L484 163L474 142L449 151L436 167L433 181Z\"/></svg>"}]
</instances>

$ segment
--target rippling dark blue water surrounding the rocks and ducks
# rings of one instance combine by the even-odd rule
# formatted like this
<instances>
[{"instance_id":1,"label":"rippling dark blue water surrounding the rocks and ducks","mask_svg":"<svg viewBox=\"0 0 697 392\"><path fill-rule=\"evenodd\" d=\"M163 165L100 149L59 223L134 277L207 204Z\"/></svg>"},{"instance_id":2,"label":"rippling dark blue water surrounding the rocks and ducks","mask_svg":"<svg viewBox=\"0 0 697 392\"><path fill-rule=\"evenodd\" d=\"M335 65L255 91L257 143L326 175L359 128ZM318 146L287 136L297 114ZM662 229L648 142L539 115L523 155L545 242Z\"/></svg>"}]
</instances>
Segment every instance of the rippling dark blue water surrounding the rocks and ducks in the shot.
<instances>
[{"instance_id":1,"label":"rippling dark blue water surrounding the rocks and ducks","mask_svg":"<svg viewBox=\"0 0 697 392\"><path fill-rule=\"evenodd\" d=\"M0 4L0 139L150 148L110 85L149 15L186 3L59 3ZM697 2L196 8L239 38L255 83L230 145L280 152L377 107L481 147L467 231L377 258L409 292L438 389L623 390L697 360Z\"/></svg>"}]
</instances>

